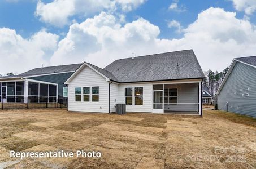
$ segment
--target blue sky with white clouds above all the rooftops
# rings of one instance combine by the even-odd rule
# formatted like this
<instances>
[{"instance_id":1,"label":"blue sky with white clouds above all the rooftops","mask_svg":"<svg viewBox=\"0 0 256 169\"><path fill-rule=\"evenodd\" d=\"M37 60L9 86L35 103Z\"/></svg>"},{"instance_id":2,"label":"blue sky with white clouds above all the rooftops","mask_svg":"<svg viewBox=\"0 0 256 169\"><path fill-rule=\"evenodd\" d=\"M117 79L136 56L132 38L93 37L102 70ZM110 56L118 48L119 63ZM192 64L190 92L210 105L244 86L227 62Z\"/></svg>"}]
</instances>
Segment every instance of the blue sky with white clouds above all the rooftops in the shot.
<instances>
[{"instance_id":1,"label":"blue sky with white clouds above all the rooftops","mask_svg":"<svg viewBox=\"0 0 256 169\"><path fill-rule=\"evenodd\" d=\"M6 46L7 41L10 41L8 43L11 44L11 48L5 48L6 52L0 52L2 55L0 57L8 57L10 61L14 58L20 60L34 58L37 61L24 60L25 66L22 68L0 64L0 74L21 73L41 64L50 66L83 61L91 61L93 64L104 67L115 59L129 56L132 52L137 55L146 55L189 48L195 51L199 63L203 64L203 70L220 71L231 63L233 57L256 55L256 51L253 50L255 41L250 39L255 33L256 3L250 0L248 2L247 0L134 0L131 3L121 3L118 0L108 1L109 4L103 5L88 5L88 2L80 0L69 2L67 0L1 1L0 29L2 29L2 34L0 33L0 38L2 36L6 41L0 41L0 50L1 47ZM73 8L71 8L72 5ZM84 7L81 7L83 5ZM208 28L209 32L201 30L202 26L208 24L207 17L211 25ZM92 27L89 26L93 25L89 19L102 21L102 23L107 20L111 25L103 23L98 26L99 23L97 23ZM87 24L84 26L82 23ZM108 30L105 29L106 26ZM3 30L3 28L7 29ZM94 30L99 32L95 33ZM109 30L110 32L107 32ZM101 34L101 32L104 33ZM114 35L112 38L107 35L113 32L123 33L123 37ZM10 38L8 34L21 39L8 39ZM240 35L248 37L244 38ZM202 41L202 45L207 44L205 48L208 51L201 50L199 41ZM67 43L71 44L71 42L72 47L67 46ZM120 43L122 45L119 46ZM138 47L133 47L131 44ZM221 48L219 49L218 46ZM223 46L227 46L228 49ZM240 47L240 52L232 50L237 46ZM117 51L111 51L112 47L118 47ZM246 52L241 52L241 49ZM221 65L207 63L209 59L214 61L220 57L225 58L225 63ZM102 62L99 62L98 60L101 59Z\"/></svg>"}]
</instances>

